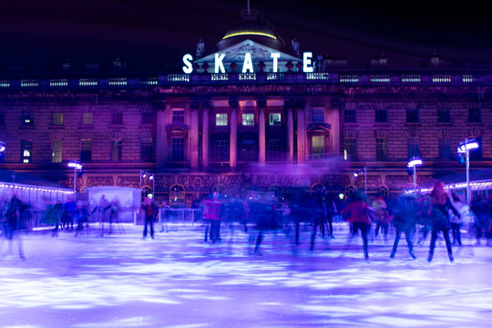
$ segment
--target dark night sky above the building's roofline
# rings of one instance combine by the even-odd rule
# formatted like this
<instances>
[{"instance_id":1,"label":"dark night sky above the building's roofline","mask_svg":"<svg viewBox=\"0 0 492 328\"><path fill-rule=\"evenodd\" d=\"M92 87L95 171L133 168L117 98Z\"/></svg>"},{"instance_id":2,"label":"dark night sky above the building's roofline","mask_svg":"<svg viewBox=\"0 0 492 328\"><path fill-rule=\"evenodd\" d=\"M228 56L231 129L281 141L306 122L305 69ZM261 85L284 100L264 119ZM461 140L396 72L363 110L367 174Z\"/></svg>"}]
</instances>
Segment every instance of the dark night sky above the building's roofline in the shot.
<instances>
[{"instance_id":1,"label":"dark night sky above the building's roofline","mask_svg":"<svg viewBox=\"0 0 492 328\"><path fill-rule=\"evenodd\" d=\"M480 2L251 0L283 37L302 51L366 63L384 54L390 63L418 65L433 52L448 60L492 59L492 22ZM485 3L485 2L484 2ZM247 1L46 0L0 5L0 67L39 71L66 57L108 64L116 56L130 69L165 69L195 53L199 37L212 53L241 21Z\"/></svg>"}]
</instances>

